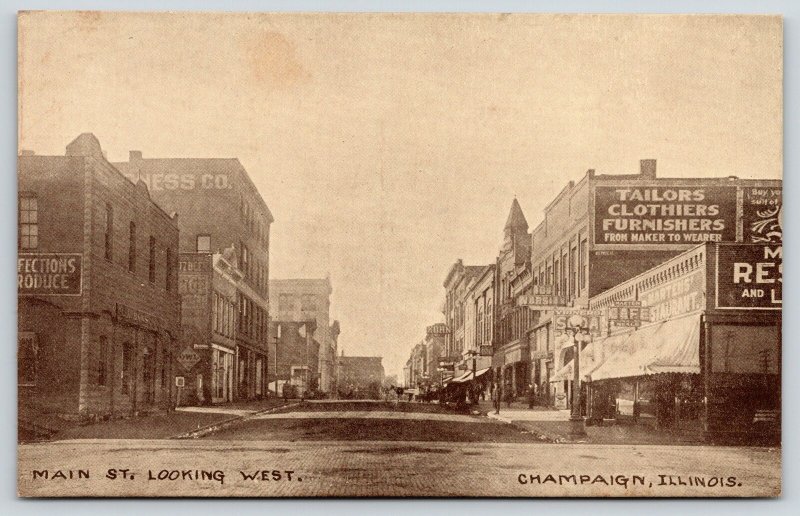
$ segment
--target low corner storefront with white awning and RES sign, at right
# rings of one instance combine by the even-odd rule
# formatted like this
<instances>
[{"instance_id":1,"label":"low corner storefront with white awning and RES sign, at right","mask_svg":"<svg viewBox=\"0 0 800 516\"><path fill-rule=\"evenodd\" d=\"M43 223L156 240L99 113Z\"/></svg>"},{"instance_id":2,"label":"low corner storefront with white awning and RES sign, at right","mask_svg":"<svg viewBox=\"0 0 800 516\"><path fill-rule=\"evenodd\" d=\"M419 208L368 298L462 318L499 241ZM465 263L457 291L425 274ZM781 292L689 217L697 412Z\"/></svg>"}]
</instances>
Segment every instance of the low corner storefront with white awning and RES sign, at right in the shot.
<instances>
[{"instance_id":1,"label":"low corner storefront with white awning and RES sign, at right","mask_svg":"<svg viewBox=\"0 0 800 516\"><path fill-rule=\"evenodd\" d=\"M779 436L781 251L705 244L592 298L607 331L581 352L587 417ZM623 322L620 306L638 315Z\"/></svg>"}]
</instances>

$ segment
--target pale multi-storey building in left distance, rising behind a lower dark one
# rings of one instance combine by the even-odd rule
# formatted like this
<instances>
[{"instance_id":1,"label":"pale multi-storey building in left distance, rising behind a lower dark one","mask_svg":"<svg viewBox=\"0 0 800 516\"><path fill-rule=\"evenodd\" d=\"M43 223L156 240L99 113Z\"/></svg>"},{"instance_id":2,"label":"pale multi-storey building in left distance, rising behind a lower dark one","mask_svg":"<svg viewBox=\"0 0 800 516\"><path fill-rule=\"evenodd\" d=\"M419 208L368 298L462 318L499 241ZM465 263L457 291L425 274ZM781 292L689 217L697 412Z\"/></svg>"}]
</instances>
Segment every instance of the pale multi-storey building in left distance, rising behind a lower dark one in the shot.
<instances>
[{"instance_id":1,"label":"pale multi-storey building in left distance, rising behind a lower dark one","mask_svg":"<svg viewBox=\"0 0 800 516\"><path fill-rule=\"evenodd\" d=\"M275 322L316 322L313 338L319 342L319 390L336 392L336 352L339 322L330 322L330 279L278 279L270 281L270 306ZM270 377L272 381L272 377Z\"/></svg>"}]
</instances>

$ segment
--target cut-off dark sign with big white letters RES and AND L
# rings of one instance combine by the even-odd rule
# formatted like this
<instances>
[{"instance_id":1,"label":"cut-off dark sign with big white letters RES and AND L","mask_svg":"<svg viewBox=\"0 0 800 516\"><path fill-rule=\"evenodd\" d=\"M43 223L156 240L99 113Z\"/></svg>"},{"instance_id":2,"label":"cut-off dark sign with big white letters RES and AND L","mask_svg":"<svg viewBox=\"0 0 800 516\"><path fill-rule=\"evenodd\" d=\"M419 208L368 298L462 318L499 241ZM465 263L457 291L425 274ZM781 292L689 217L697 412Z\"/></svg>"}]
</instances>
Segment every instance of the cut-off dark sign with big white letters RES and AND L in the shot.
<instances>
[{"instance_id":1,"label":"cut-off dark sign with big white letters RES and AND L","mask_svg":"<svg viewBox=\"0 0 800 516\"><path fill-rule=\"evenodd\" d=\"M780 310L783 300L783 246L717 246L716 307Z\"/></svg>"}]
</instances>

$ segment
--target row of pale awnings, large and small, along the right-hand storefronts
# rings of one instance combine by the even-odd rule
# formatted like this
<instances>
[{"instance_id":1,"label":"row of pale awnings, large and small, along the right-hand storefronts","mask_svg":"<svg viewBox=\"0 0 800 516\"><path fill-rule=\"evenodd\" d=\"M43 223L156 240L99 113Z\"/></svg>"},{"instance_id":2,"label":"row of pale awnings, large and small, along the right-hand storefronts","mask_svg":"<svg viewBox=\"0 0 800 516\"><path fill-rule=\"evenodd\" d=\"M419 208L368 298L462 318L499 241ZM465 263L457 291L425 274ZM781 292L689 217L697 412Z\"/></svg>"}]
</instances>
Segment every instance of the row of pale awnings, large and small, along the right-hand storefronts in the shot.
<instances>
[{"instance_id":1,"label":"row of pale awnings, large and small, along the right-hand storefronts","mask_svg":"<svg viewBox=\"0 0 800 516\"><path fill-rule=\"evenodd\" d=\"M700 373L700 315L661 321L588 344L580 354L588 381L658 373ZM572 361L551 381L571 380Z\"/></svg>"}]
</instances>

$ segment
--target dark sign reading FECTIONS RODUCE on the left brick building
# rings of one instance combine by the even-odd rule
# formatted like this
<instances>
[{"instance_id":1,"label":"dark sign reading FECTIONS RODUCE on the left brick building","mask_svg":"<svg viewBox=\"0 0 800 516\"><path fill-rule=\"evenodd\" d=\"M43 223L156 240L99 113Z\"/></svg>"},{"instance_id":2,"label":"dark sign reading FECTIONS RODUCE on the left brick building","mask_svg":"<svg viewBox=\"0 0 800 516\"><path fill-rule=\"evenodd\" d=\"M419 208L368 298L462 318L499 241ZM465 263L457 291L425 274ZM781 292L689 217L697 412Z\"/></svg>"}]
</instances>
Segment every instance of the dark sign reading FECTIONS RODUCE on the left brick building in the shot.
<instances>
[{"instance_id":1,"label":"dark sign reading FECTIONS RODUCE on the left brick building","mask_svg":"<svg viewBox=\"0 0 800 516\"><path fill-rule=\"evenodd\" d=\"M17 293L20 296L79 296L81 254L20 253L17 256Z\"/></svg>"}]
</instances>

